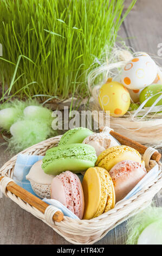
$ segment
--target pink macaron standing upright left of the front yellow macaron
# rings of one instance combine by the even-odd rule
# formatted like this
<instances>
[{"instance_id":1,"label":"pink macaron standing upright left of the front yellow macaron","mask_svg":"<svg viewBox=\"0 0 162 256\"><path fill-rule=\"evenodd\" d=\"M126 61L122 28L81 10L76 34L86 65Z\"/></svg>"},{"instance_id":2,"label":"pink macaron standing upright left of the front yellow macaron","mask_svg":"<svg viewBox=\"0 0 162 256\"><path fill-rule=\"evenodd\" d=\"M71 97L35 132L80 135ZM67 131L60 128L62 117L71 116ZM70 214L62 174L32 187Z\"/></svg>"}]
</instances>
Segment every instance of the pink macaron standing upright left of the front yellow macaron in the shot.
<instances>
[{"instance_id":1,"label":"pink macaron standing upright left of the front yellow macaron","mask_svg":"<svg viewBox=\"0 0 162 256\"><path fill-rule=\"evenodd\" d=\"M67 170L57 175L51 182L51 199L59 201L82 219L85 201L82 185L76 174Z\"/></svg>"}]
</instances>

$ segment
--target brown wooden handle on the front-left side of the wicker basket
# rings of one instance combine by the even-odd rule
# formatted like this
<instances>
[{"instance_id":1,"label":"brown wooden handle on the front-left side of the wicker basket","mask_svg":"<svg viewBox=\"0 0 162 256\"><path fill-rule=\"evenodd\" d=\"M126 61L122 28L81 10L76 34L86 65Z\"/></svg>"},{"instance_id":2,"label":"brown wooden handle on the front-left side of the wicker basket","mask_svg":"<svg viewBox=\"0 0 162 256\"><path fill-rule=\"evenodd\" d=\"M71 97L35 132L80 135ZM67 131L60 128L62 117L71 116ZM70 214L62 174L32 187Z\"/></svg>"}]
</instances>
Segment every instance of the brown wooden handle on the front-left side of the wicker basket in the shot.
<instances>
[{"instance_id":1,"label":"brown wooden handle on the front-left side of the wicker basket","mask_svg":"<svg viewBox=\"0 0 162 256\"><path fill-rule=\"evenodd\" d=\"M2 179L5 178L4 176L0 176L0 182ZM10 181L6 187L7 191L10 191L15 196L20 197L24 202L30 204L31 206L35 207L36 209L40 210L42 214L46 214L47 208L49 205L43 202L41 199L37 198L24 188L18 186L15 182ZM58 209L53 215L53 221L61 222L63 220L63 213Z\"/></svg>"}]
</instances>

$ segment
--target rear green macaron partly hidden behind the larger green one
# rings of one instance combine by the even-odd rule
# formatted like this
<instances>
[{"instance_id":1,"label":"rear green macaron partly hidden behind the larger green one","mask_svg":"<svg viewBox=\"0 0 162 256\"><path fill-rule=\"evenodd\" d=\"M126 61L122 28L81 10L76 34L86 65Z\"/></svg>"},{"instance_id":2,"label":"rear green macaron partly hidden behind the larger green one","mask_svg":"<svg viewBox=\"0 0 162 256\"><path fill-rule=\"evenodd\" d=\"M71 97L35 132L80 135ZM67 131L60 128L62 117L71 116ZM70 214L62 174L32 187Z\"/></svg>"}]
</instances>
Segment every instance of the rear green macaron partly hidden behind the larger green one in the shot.
<instances>
[{"instance_id":1,"label":"rear green macaron partly hidden behind the larger green one","mask_svg":"<svg viewBox=\"0 0 162 256\"><path fill-rule=\"evenodd\" d=\"M92 131L87 128L77 127L64 133L61 137L59 145L82 143L85 138L92 135Z\"/></svg>"}]
</instances>

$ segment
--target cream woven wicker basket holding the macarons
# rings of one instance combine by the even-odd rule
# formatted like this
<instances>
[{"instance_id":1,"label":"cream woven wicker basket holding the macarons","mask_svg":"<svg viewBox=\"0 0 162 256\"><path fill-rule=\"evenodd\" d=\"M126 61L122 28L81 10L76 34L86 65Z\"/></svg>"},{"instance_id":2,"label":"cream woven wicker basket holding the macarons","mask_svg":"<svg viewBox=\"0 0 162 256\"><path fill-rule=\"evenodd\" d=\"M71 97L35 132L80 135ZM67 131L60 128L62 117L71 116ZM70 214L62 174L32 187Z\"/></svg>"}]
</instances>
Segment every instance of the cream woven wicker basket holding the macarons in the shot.
<instances>
[{"instance_id":1,"label":"cream woven wicker basket holding the macarons","mask_svg":"<svg viewBox=\"0 0 162 256\"><path fill-rule=\"evenodd\" d=\"M57 146L60 141L61 136L57 136L54 138L50 138L47 141L41 142L39 144L34 145L24 151L22 154L28 155L44 155L46 150ZM133 146L132 146L133 147ZM148 148L149 149L149 148ZM152 168L155 161L150 160L151 155L153 154L152 150L147 150L147 154L144 154L144 160L146 164L149 163L149 167ZM162 172L160 172L157 179L152 180L149 185L143 188L140 192L135 194L135 196L129 198L128 200L121 200L115 205L115 208L109 210L105 214L100 215L97 218L93 218L92 220L73 220L69 217L64 217L61 222L54 222L53 215L55 212L54 206L48 206L48 210L43 214L40 210L36 208L36 204L27 203L27 199L21 199L20 196L16 196L14 193L11 193L8 190L10 186L10 182L12 180L12 175L14 172L15 163L17 160L17 155L12 157L10 161L4 164L4 166L0 169L0 175L4 176L1 178L1 190L2 192L11 198L15 203L21 206L21 208L35 215L37 218L47 223L51 228L53 228L58 234L64 237L67 241L73 244L93 244L103 236L105 236L109 230L113 229L120 223L127 220L129 217L137 214L138 211L146 208L151 201L154 195L161 189L162 187ZM159 170L161 171L161 163L158 162ZM17 186L17 185L16 185ZM17 186L18 187L18 186ZM20 191L21 191L21 187ZM17 191L18 192L18 191ZM17 193L18 194L18 193ZM31 195L31 194L30 194ZM29 199L30 199L29 195ZM33 196L33 195L31 195ZM34 197L34 196L33 196ZM40 199L38 199L40 200ZM28 200L28 202L33 202L32 200ZM43 202L40 200L43 204ZM34 205L34 206L32 206Z\"/></svg>"}]
</instances>

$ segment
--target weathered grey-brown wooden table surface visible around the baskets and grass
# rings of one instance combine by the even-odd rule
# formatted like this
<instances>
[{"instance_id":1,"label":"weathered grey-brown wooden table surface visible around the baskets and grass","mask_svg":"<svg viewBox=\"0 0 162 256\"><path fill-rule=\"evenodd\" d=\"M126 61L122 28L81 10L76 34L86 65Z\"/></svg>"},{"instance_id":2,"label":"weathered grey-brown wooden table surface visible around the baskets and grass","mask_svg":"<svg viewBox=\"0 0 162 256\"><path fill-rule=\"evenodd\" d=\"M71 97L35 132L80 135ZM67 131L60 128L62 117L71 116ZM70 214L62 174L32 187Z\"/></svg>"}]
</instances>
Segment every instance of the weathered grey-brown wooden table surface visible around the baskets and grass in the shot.
<instances>
[{"instance_id":1,"label":"weathered grey-brown wooden table surface visible around the baskets and grass","mask_svg":"<svg viewBox=\"0 0 162 256\"><path fill-rule=\"evenodd\" d=\"M161 9L162 1L137 1L119 32L127 45L133 47L135 51L146 51L157 55L157 46L162 42ZM1 147L0 166L9 159L5 146ZM154 197L155 205L162 206L161 198L162 191ZM96 245L123 245L125 242L126 222L109 231ZM69 245L70 243L56 234L48 225L3 196L0 198L0 245L3 244Z\"/></svg>"}]
</instances>

